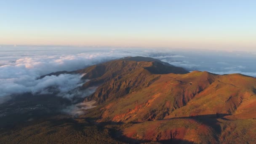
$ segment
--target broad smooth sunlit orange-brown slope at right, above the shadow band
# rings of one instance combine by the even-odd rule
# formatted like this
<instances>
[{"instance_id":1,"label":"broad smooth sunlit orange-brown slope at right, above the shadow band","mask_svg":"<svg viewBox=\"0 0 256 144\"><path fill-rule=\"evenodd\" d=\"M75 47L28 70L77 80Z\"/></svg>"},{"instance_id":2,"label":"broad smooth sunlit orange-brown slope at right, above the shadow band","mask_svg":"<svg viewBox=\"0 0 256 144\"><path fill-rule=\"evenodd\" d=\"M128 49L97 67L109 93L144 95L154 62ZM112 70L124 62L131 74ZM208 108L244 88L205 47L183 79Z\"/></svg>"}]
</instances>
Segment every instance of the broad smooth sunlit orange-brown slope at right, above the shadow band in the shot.
<instances>
[{"instance_id":1,"label":"broad smooth sunlit orange-brown slope at right, above the shadow band","mask_svg":"<svg viewBox=\"0 0 256 144\"><path fill-rule=\"evenodd\" d=\"M109 103L105 111L107 117L103 119L147 121L197 115L227 115L230 119L256 117L256 78L199 71L159 76L148 87L129 91Z\"/></svg>"}]
</instances>

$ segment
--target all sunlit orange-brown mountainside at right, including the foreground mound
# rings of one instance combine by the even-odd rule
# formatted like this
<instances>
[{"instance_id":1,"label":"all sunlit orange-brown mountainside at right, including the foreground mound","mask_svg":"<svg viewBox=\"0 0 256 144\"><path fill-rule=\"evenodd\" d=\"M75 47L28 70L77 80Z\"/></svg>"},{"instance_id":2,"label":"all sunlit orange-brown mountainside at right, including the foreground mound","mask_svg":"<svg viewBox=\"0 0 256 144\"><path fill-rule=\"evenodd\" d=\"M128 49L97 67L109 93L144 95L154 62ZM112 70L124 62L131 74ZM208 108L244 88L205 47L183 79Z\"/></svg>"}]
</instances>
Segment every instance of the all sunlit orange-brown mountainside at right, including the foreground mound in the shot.
<instances>
[{"instance_id":1,"label":"all sunlit orange-brown mountainside at right, including the foreground mound","mask_svg":"<svg viewBox=\"0 0 256 144\"><path fill-rule=\"evenodd\" d=\"M138 83L141 79L152 81L143 85L148 82ZM127 80L140 86L127 85ZM120 80L110 81L85 101L99 101L103 88L115 88L117 83L120 88L111 91L111 99L100 99L101 104L89 110L88 115L97 117L100 123L130 123L122 129L127 141L253 143L256 140L256 128L251 128L256 125L254 77L200 71L153 74L137 69ZM122 88L129 91L119 94Z\"/></svg>"}]
</instances>

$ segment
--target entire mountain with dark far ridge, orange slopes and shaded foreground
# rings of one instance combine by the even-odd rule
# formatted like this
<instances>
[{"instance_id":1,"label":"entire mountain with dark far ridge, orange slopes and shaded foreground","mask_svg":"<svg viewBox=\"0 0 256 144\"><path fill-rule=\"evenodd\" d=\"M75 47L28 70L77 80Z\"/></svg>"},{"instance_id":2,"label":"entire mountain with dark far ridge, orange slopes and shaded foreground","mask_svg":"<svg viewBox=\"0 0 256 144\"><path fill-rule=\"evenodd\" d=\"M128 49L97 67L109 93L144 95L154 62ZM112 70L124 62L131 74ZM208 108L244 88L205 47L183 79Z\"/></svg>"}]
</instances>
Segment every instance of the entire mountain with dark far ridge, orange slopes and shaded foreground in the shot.
<instances>
[{"instance_id":1,"label":"entire mountain with dark far ridge, orange slopes and shaded foreground","mask_svg":"<svg viewBox=\"0 0 256 144\"><path fill-rule=\"evenodd\" d=\"M3 129L3 143L255 143L256 78L216 75L144 57L73 72L97 87L84 114L40 117ZM2 131L3 131L2 130Z\"/></svg>"}]
</instances>

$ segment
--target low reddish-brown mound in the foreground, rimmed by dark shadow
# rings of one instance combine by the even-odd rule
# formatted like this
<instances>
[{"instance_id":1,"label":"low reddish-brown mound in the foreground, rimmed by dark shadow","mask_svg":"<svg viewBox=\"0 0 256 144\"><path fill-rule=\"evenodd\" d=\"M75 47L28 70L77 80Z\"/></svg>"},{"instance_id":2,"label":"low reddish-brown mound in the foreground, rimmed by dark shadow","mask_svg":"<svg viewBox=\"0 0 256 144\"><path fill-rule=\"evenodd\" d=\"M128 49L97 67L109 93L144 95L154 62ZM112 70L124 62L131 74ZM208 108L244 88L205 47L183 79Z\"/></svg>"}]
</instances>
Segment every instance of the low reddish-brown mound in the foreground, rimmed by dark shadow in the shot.
<instances>
[{"instance_id":1,"label":"low reddish-brown mound in the foreground, rimmed by dark shadow","mask_svg":"<svg viewBox=\"0 0 256 144\"><path fill-rule=\"evenodd\" d=\"M211 131L208 131L208 133L200 132L204 131L201 129L201 127L192 128L195 129L195 131L198 131L197 135L200 136L202 141L205 141L205 143L218 143L219 136L221 135L221 125L218 119L225 120L224 116L227 116L227 114L216 114L216 115L198 115L198 116L190 116L190 117L175 117L165 120L156 120L156 121L147 121L147 122L135 122L133 125L128 126L128 130L126 129L126 134L130 136L127 136L124 132L122 135L117 139L122 142L128 142L128 143L144 143L144 142L152 142L157 141L159 143L163 144L192 144L196 141L187 141L184 139L181 139L182 132L178 129L190 129L193 125L192 123L175 123L178 120L181 122L182 120L195 120L199 123L199 125L202 125L202 128L204 128L203 125L208 126L208 128L211 129ZM174 120L174 121L173 121ZM153 126L154 125L154 126ZM157 126L156 126L157 125ZM165 125L163 127L163 125ZM141 132L141 130L143 132ZM173 134L173 131L178 131L177 133ZM186 130L185 130L186 131ZM150 136L148 136L150 133ZM183 133L184 134L184 133ZM116 134L118 135L118 134ZM180 135L180 136L178 136ZM189 133L186 131L184 135L193 136L195 133ZM213 139L208 139L208 135L211 135Z\"/></svg>"}]
</instances>

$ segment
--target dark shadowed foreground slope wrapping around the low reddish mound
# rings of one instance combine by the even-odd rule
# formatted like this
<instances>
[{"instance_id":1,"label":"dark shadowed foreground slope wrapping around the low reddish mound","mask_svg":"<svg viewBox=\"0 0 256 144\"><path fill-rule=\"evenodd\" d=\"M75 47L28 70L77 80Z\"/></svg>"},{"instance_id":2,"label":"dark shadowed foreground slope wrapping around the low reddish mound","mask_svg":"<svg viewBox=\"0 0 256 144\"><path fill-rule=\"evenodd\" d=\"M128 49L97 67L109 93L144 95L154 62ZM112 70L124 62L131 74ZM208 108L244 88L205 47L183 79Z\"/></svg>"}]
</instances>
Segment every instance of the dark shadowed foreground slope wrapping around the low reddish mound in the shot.
<instances>
[{"instance_id":1,"label":"dark shadowed foreground slope wrapping around the low reddish mound","mask_svg":"<svg viewBox=\"0 0 256 144\"><path fill-rule=\"evenodd\" d=\"M215 129L216 136L218 139L219 133L221 133L220 125L218 125L217 118L223 118L226 116L225 114L217 114L217 115L200 115L193 117L177 117L166 119L165 121L172 119L193 119L198 121L199 123L208 125ZM122 123L122 122L112 122L105 121L99 122L100 117L80 117L80 118L72 118L67 115L56 115L49 116L38 120L33 120L26 125L20 125L15 128L13 133L9 133L8 131L2 131L3 133L0 135L0 139L5 142L8 139L13 139L13 142L93 142L99 141L103 143L159 143L159 144L193 144L193 141L187 141L184 139L177 139L171 136L170 139L156 139L156 141L147 140L147 139L133 139L131 137L127 137L123 135L123 130L125 128L132 127L134 125L140 125L146 122L130 122L130 123ZM162 121L162 120L158 120ZM147 123L155 123L157 121L147 121ZM146 125L150 127L151 125ZM182 125L186 127L187 125ZM5 129L6 130L6 129ZM11 131L13 131L12 129ZM70 135L71 134L71 135Z\"/></svg>"}]
</instances>

